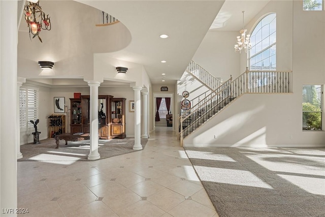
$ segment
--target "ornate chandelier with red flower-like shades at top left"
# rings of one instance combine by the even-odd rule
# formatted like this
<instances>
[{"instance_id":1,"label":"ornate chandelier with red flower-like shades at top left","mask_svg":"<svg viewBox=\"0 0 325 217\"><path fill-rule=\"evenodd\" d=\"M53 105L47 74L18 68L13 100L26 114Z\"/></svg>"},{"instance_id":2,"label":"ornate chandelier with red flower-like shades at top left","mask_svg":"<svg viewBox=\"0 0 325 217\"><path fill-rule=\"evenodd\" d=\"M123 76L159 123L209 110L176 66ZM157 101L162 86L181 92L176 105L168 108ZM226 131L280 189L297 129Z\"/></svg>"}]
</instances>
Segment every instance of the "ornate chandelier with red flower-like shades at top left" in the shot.
<instances>
[{"instance_id":1,"label":"ornate chandelier with red flower-like shades at top left","mask_svg":"<svg viewBox=\"0 0 325 217\"><path fill-rule=\"evenodd\" d=\"M40 32L42 29L51 30L51 21L49 15L45 15L42 11L39 1L33 0L29 2L29 5L26 2L25 8L25 19L27 26L29 27L29 38L31 40L31 35L33 39L37 36L42 42L40 37Z\"/></svg>"}]
</instances>

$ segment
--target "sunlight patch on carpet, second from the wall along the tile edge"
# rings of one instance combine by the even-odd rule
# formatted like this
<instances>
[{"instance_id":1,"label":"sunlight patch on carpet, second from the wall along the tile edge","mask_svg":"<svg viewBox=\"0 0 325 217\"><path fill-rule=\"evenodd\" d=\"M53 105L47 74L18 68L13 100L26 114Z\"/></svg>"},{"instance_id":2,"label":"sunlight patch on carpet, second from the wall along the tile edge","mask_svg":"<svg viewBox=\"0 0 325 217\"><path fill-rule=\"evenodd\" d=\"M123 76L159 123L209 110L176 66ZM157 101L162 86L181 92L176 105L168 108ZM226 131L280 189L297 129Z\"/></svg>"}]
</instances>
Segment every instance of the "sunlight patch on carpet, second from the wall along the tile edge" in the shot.
<instances>
[{"instance_id":1,"label":"sunlight patch on carpet, second from the wall along the tile edge","mask_svg":"<svg viewBox=\"0 0 325 217\"><path fill-rule=\"evenodd\" d=\"M198 171L201 181L273 189L249 171L203 166L194 166L194 168Z\"/></svg>"}]
</instances>

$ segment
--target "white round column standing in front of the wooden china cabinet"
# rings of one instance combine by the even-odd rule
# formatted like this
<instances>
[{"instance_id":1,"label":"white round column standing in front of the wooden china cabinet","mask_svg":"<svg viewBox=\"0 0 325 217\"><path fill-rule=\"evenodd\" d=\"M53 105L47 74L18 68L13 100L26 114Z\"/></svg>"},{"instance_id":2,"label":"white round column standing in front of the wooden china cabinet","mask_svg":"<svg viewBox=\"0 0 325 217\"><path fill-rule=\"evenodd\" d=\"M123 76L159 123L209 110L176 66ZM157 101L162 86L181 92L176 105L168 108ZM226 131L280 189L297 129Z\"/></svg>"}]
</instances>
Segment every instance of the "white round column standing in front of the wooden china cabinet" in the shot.
<instances>
[{"instance_id":1,"label":"white round column standing in front of the wooden china cabinet","mask_svg":"<svg viewBox=\"0 0 325 217\"><path fill-rule=\"evenodd\" d=\"M88 81L90 87L90 153L88 160L98 160L101 158L98 152L98 81Z\"/></svg>"}]
</instances>

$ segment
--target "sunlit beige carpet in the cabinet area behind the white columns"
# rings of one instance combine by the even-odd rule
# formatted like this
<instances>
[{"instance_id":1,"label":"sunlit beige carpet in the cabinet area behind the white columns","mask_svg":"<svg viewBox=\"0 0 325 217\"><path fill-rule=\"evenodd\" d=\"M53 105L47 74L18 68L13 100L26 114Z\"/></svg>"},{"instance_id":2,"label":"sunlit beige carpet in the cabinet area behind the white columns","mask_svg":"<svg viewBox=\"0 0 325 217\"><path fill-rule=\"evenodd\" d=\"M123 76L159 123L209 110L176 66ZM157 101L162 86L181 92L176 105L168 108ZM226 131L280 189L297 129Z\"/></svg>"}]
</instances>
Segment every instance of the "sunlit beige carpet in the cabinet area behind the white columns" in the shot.
<instances>
[{"instance_id":1,"label":"sunlit beige carpet in the cabinet area behind the white columns","mask_svg":"<svg viewBox=\"0 0 325 217\"><path fill-rule=\"evenodd\" d=\"M141 139L144 148L148 139ZM84 141L68 141L68 145L64 145L64 140L60 140L60 147L56 147L53 138L44 139L40 144L24 144L20 146L20 152L23 158L18 161L88 161L90 150L89 140ZM121 154L134 152L134 138L99 140L98 151L101 155L100 159L111 158Z\"/></svg>"}]
</instances>

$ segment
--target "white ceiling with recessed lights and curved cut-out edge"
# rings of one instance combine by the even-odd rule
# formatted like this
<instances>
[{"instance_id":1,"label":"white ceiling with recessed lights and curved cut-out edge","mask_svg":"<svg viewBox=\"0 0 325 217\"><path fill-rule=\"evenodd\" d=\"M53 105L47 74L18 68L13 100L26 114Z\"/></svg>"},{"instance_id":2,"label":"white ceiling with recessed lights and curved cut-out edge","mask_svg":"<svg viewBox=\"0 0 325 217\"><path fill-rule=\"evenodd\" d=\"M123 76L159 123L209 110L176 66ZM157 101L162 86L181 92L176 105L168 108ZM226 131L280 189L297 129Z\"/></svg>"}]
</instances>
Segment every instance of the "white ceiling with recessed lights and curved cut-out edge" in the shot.
<instances>
[{"instance_id":1,"label":"white ceiling with recessed lights and curved cut-out edge","mask_svg":"<svg viewBox=\"0 0 325 217\"><path fill-rule=\"evenodd\" d=\"M143 65L153 84L163 84L175 83L180 79L214 20L218 28L211 30L239 31L242 28L242 11L245 11L247 23L269 1L75 2L105 11L119 19L131 33L132 40L127 47L108 53L108 56ZM46 2L41 0L40 5ZM58 2L64 8L67 1ZM47 8L46 13L51 15L54 11ZM20 30L23 28L26 28L25 25ZM66 29L51 31L67 32ZM169 38L161 39L161 34L167 34ZM166 60L166 63L161 63L161 60ZM163 73L166 74L165 82L161 81Z\"/></svg>"}]
</instances>

